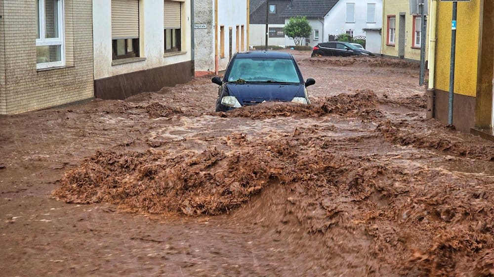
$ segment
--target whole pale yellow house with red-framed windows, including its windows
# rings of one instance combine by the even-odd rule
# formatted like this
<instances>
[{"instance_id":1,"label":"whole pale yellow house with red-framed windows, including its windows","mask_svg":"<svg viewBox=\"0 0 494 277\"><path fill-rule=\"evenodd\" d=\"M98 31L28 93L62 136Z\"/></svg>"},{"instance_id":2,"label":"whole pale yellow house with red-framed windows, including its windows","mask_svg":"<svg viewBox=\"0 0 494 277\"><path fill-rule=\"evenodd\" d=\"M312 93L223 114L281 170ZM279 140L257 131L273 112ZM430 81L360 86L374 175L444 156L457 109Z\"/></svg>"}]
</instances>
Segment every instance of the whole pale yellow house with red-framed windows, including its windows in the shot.
<instances>
[{"instance_id":1,"label":"whole pale yellow house with red-framed windows, including its windows","mask_svg":"<svg viewBox=\"0 0 494 277\"><path fill-rule=\"evenodd\" d=\"M382 54L420 61L422 24L420 15L411 13L410 0L383 0L382 23ZM427 39L426 60L428 45Z\"/></svg>"}]
</instances>

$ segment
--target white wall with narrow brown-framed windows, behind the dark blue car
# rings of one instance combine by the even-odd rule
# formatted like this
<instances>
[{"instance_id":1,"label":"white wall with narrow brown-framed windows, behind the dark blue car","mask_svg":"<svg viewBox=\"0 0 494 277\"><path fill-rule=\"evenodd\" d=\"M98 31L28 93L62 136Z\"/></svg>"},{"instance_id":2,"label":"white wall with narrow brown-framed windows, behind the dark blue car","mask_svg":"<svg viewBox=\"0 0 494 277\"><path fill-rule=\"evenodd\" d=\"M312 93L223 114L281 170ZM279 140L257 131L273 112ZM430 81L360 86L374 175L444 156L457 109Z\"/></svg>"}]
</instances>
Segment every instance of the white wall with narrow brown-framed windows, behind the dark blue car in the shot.
<instances>
[{"instance_id":1,"label":"white wall with narrow brown-framed windows, behind the dark blue car","mask_svg":"<svg viewBox=\"0 0 494 277\"><path fill-rule=\"evenodd\" d=\"M230 40L229 40L229 28L232 27L232 56L236 51L236 27L240 25L240 32L242 32L241 26L244 25L244 49L248 49L247 46L247 0L218 0L218 25L225 26L225 57L219 58L219 71L225 70L229 62L230 54ZM218 49L221 47L220 32L218 27ZM242 43L242 36L239 34L239 44ZM242 50L242 47L239 47ZM221 53L218 50L218 55Z\"/></svg>"}]
</instances>

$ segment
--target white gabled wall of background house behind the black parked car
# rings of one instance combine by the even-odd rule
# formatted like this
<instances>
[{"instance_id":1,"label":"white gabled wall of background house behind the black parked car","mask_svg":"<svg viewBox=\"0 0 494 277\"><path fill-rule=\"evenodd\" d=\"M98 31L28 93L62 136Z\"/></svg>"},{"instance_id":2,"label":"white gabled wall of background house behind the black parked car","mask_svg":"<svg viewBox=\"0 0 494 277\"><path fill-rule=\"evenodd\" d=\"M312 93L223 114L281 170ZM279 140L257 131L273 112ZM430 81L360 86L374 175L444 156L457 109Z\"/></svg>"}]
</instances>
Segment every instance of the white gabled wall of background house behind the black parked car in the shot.
<instances>
[{"instance_id":1,"label":"white gabled wall of background house behind the black parked car","mask_svg":"<svg viewBox=\"0 0 494 277\"><path fill-rule=\"evenodd\" d=\"M355 3L355 23L346 23L346 3ZM375 23L367 23L367 4L375 3ZM329 35L353 30L353 36L365 36L364 28L382 27L382 0L340 0L324 17L324 41ZM322 42L322 41L321 41Z\"/></svg>"}]
</instances>

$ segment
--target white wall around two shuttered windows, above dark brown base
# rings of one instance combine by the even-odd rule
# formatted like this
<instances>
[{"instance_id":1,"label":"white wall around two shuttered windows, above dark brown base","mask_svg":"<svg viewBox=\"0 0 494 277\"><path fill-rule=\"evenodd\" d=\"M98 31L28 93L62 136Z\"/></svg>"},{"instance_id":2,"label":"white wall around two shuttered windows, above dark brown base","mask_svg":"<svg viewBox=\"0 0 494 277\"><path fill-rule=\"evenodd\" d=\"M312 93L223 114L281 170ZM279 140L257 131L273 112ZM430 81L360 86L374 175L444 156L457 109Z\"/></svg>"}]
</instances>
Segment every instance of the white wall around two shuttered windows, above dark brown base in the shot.
<instances>
[{"instance_id":1,"label":"white wall around two shuttered windows, above dark brown base","mask_svg":"<svg viewBox=\"0 0 494 277\"><path fill-rule=\"evenodd\" d=\"M182 4L184 54L164 57L164 1L139 0L140 57L146 60L120 65L112 65L111 0L92 0L92 4L95 80L191 60L190 0Z\"/></svg>"}]
</instances>

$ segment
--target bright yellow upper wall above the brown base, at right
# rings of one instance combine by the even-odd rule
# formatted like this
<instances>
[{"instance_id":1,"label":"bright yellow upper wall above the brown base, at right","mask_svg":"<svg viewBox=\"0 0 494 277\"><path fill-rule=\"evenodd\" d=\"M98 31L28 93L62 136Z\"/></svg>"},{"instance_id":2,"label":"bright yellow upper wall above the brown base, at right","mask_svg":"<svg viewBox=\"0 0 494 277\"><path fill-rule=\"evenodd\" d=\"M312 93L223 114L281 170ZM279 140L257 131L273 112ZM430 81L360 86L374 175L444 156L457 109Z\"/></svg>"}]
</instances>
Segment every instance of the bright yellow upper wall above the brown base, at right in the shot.
<instances>
[{"instance_id":1,"label":"bright yellow upper wall above the brown base, at right","mask_svg":"<svg viewBox=\"0 0 494 277\"><path fill-rule=\"evenodd\" d=\"M476 96L480 1L458 2L454 93ZM453 4L438 0L436 76L434 88L450 90L451 20Z\"/></svg>"}]
</instances>

